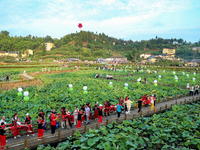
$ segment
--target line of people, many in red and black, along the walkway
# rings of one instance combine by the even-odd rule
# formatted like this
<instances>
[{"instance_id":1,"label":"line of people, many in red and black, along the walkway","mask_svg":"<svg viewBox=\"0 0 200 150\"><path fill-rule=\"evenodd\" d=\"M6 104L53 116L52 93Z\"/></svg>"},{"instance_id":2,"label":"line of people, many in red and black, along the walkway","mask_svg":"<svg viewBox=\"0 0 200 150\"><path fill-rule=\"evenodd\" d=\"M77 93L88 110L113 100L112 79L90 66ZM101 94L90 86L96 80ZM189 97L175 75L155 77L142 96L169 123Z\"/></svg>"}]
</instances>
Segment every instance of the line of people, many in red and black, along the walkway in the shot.
<instances>
[{"instance_id":1,"label":"line of people, many in red and black, along the walkway","mask_svg":"<svg viewBox=\"0 0 200 150\"><path fill-rule=\"evenodd\" d=\"M193 87L193 86L191 86ZM190 87L190 92L194 90L194 87ZM198 94L199 86L198 84L195 86L195 94ZM152 95L148 96L148 94L145 94L141 96L141 98L138 101L138 113L141 111L142 105L149 106L149 105L156 105L156 94L153 93ZM81 128L82 123L85 122L85 124L90 124L92 120L92 114L94 117L94 120L98 119L98 123L101 123L103 121L104 117L109 117L110 112L116 112L117 117L119 118L121 113L130 114L131 110L131 104L133 101L130 100L129 96L126 96L125 99L123 97L120 98L119 103L115 105L111 105L111 103L107 100L105 103L98 104L98 102L95 103L94 107L91 107L90 103L84 104L81 106L80 110L78 107L75 107L74 112L70 112L65 107L61 108L61 115L56 112L54 109L50 115L48 116L51 124L51 134L55 133L56 125L58 124L58 121L61 121L61 127L65 129L72 128L72 124L76 126L76 128ZM40 110L38 114L38 120L37 120L37 126L38 126L38 140L42 140L43 132L45 129L45 114L43 110ZM10 129L11 133L14 135L14 138L20 137L20 131L26 131L26 135L29 136L29 134L32 134L34 136L33 132L33 123L32 118L30 117L29 113L26 114L26 117L24 119L24 122L20 122L20 119L18 118L18 114L15 113L13 117L11 118L12 123L7 124L5 122L5 116L2 116L0 121L0 141L1 146L4 146L6 144L6 130Z\"/></svg>"}]
</instances>

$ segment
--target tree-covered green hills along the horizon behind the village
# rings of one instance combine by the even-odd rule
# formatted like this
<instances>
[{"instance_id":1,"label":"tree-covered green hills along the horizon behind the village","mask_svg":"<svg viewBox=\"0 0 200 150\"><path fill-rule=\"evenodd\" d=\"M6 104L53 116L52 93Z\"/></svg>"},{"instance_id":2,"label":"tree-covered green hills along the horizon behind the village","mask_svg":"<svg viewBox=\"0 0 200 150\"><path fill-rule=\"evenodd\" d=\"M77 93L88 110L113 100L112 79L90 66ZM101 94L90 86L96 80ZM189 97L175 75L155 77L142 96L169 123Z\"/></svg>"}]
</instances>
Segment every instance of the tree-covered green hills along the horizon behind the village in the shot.
<instances>
[{"instance_id":1,"label":"tree-covered green hills along the horizon behind the village","mask_svg":"<svg viewBox=\"0 0 200 150\"><path fill-rule=\"evenodd\" d=\"M195 43L184 41L183 39L163 39L155 37L150 40L132 41L109 37L104 33L93 33L81 31L79 33L68 34L60 39L53 39L51 36L37 37L28 35L26 37L11 37L8 31L0 32L0 50L1 51L21 51L33 49L41 51L41 55L45 55L42 43L52 42L55 47L52 51L59 49L68 50L67 46L79 46L80 48L88 48L90 52L108 52L120 53L127 56L129 60L134 60L135 55L139 57L140 53L162 54L163 48L175 48L176 56L183 59L199 58L199 52L193 51L192 47L200 47L200 40ZM64 47L64 49L63 49ZM92 55L91 55L92 56ZM104 56L102 54L102 56Z\"/></svg>"}]
</instances>

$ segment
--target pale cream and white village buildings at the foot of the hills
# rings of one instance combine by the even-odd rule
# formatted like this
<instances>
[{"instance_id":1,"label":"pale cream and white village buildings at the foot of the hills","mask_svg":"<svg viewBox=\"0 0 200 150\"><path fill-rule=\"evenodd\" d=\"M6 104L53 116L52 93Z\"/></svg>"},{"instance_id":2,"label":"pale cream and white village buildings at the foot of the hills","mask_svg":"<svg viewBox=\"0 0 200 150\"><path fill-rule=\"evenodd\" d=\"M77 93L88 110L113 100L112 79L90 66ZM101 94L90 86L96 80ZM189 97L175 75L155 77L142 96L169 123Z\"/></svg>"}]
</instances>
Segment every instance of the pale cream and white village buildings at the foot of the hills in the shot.
<instances>
[{"instance_id":1,"label":"pale cream and white village buildings at the foot of the hills","mask_svg":"<svg viewBox=\"0 0 200 150\"><path fill-rule=\"evenodd\" d=\"M46 51L51 51L51 49L54 47L53 43L45 43L46 46ZM200 47L193 47L192 50L196 51L200 51ZM142 64L149 64L149 63L155 63L158 62L160 60L170 60L172 62L174 61L178 61L182 64L184 64L184 66L200 66L200 59L192 59L191 62L187 62L186 60L182 59L182 58L177 58L175 57L175 49L170 49L170 48L163 48L162 51L162 55L152 55L151 53L141 53L140 54L140 61L137 61L138 63L142 63ZM31 49L27 49L24 51L23 54L20 55L21 58L25 58L28 56L33 55L34 51ZM0 51L0 57L15 57L18 58L19 57L20 52L19 51ZM82 61L78 58L67 58L66 60L62 59L60 61L56 61L54 60L54 62L59 62L59 63L63 63L63 62L79 62L81 63ZM127 60L126 57L124 56L114 56L114 57L110 57L110 58L98 58L97 61L84 61L85 63L115 63L115 64L119 64L119 63L129 63L129 61Z\"/></svg>"}]
</instances>

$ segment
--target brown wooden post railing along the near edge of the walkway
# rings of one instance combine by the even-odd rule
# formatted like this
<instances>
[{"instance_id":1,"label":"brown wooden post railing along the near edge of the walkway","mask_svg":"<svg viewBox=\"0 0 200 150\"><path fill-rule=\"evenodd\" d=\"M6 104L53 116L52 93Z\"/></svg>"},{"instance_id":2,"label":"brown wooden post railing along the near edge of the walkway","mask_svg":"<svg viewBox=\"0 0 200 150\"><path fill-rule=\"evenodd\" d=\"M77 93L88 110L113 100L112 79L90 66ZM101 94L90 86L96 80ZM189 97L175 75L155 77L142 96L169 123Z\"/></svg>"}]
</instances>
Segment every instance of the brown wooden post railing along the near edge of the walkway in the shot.
<instances>
[{"instance_id":1,"label":"brown wooden post railing along the near edge of the walkway","mask_svg":"<svg viewBox=\"0 0 200 150\"><path fill-rule=\"evenodd\" d=\"M106 121L103 121L102 123L98 124L91 124L91 125L86 125L82 128L78 128L78 129L71 129L71 130L67 130L67 131L58 131L58 133L55 133L54 135L50 134L50 135L46 135L43 136L43 139L38 141L38 138L33 138L33 139L26 139L25 141L21 141L18 143L14 143L14 144L10 144L10 145L6 145L4 146L6 150L20 150L20 149L25 149L25 148L34 148L37 147L40 144L43 145L47 145L50 143L56 143L56 142L61 142L65 139L67 139L67 137L73 136L75 131L79 131L81 134L89 131L89 129L98 129L101 126L107 126L109 123L112 123L113 121L116 121L117 123L122 123L124 120L133 120L135 118L141 117L141 116L151 116L153 114L157 114L157 113L161 113L166 111L167 109L171 109L173 105L175 104L187 104L187 103L193 103L193 102L197 102L200 101L200 97L196 97L196 99L194 97L186 100L184 99L183 101L176 101L175 103L171 104L171 105L167 105L165 104L165 106L159 107L159 108L155 108L153 110L145 110L145 111L141 111L138 114L132 114L132 115L125 115L123 117L117 118L117 119L107 119Z\"/></svg>"}]
</instances>

